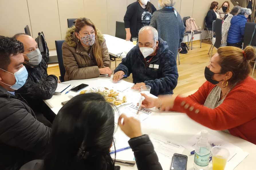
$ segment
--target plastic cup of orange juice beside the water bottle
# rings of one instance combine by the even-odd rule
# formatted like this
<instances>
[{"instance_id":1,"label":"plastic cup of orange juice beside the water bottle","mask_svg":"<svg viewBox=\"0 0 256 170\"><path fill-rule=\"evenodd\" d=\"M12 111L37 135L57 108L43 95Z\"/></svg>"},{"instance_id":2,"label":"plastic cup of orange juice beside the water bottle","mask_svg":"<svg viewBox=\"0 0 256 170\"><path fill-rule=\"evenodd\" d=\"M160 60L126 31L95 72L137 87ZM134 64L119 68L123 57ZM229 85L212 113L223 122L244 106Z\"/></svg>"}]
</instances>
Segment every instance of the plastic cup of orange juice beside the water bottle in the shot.
<instances>
[{"instance_id":1,"label":"plastic cup of orange juice beside the water bottle","mask_svg":"<svg viewBox=\"0 0 256 170\"><path fill-rule=\"evenodd\" d=\"M229 157L229 151L225 147L214 146L211 152L212 170L224 170Z\"/></svg>"}]
</instances>

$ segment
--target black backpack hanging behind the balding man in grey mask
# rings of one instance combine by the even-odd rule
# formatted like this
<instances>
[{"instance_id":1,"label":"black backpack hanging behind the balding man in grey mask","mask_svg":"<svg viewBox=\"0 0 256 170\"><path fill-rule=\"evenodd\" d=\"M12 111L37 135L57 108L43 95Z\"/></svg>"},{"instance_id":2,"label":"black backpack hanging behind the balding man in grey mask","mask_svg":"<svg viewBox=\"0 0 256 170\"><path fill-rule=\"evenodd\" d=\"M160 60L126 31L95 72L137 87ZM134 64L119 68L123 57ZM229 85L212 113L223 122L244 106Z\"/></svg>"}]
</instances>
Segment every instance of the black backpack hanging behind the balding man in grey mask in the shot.
<instances>
[{"instance_id":1,"label":"black backpack hanging behind the balding man in grey mask","mask_svg":"<svg viewBox=\"0 0 256 170\"><path fill-rule=\"evenodd\" d=\"M38 48L39 48L39 50L42 54L42 58L44 59L44 61L47 64L48 60L49 60L49 49L48 49L47 43L45 41L43 32L38 33L38 37L36 38L36 42L37 42Z\"/></svg>"}]
</instances>

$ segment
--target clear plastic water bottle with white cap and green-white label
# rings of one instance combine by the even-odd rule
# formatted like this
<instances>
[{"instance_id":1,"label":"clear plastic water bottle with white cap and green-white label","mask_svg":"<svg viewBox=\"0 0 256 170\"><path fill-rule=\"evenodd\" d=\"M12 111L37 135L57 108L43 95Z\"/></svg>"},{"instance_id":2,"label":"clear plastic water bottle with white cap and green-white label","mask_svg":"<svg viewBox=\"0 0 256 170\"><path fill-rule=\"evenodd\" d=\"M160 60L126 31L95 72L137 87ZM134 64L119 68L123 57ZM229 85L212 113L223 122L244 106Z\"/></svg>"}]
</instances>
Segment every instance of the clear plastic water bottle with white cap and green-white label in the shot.
<instances>
[{"instance_id":1,"label":"clear plastic water bottle with white cap and green-white label","mask_svg":"<svg viewBox=\"0 0 256 170\"><path fill-rule=\"evenodd\" d=\"M194 169L208 169L211 145L208 143L208 131L202 130L199 141L195 145Z\"/></svg>"}]
</instances>

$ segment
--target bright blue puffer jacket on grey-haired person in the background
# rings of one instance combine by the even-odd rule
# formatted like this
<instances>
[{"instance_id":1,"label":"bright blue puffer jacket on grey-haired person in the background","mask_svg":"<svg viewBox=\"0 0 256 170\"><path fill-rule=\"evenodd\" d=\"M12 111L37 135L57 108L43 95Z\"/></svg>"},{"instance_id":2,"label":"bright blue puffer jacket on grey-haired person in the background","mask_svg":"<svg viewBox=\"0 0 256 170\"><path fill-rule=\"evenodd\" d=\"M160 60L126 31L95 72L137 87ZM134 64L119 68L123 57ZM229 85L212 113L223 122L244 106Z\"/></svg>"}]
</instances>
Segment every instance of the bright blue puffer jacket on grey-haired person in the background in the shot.
<instances>
[{"instance_id":1,"label":"bright blue puffer jacket on grey-haired person in the background","mask_svg":"<svg viewBox=\"0 0 256 170\"><path fill-rule=\"evenodd\" d=\"M230 27L227 36L227 43L243 42L245 33L245 23L247 19L244 15L234 15L230 21Z\"/></svg>"}]
</instances>

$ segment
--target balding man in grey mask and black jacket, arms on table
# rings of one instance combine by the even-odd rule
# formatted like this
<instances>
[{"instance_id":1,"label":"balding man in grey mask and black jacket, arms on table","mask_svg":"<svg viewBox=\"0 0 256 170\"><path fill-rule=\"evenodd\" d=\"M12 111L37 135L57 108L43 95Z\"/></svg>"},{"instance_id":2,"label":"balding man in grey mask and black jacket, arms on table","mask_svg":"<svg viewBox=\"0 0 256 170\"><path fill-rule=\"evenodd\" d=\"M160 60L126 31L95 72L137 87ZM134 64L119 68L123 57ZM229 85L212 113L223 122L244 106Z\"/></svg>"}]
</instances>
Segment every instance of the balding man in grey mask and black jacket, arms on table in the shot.
<instances>
[{"instance_id":1,"label":"balding man in grey mask and black jacket, arms on table","mask_svg":"<svg viewBox=\"0 0 256 170\"><path fill-rule=\"evenodd\" d=\"M58 78L55 75L47 74L45 58L42 59L34 38L24 33L16 34L13 38L24 45L24 65L28 72L26 83L16 92L27 101L29 107L35 112L37 119L50 127L56 115L43 100L52 98L57 88Z\"/></svg>"}]
</instances>

